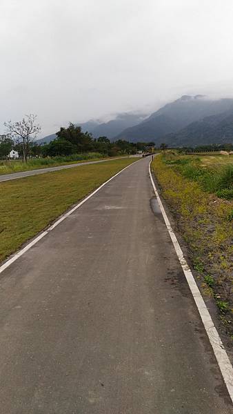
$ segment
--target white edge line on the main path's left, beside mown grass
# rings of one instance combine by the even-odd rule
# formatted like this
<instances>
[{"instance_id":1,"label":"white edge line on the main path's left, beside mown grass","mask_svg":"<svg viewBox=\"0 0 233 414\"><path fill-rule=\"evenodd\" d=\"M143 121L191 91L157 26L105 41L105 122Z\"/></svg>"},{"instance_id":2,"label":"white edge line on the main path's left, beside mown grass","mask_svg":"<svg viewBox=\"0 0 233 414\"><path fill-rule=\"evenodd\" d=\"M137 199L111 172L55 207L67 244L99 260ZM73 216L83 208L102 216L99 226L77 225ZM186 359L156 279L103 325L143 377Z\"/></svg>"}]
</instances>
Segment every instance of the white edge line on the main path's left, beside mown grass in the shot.
<instances>
[{"instance_id":1,"label":"white edge line on the main path's left, beside mown grass","mask_svg":"<svg viewBox=\"0 0 233 414\"><path fill-rule=\"evenodd\" d=\"M114 179L115 177L117 177L117 175L121 174L121 172L123 172L124 170L126 170L126 168L129 168L130 166L132 166L133 164L136 164L136 162L139 162L139 161L141 161L141 159L139 159L138 161L132 162L131 164L129 164L128 166L126 166L125 168L123 168L122 170L120 170L119 172L117 172L117 174L115 174L112 177L110 177L110 179L108 179L107 181L105 181L103 184L101 184L101 186L99 186L96 190L94 190L90 195L88 195L87 197L85 197L85 199L83 199L82 201L80 201L79 204L77 204L76 206L74 206L67 213L61 215L61 217L59 217L59 219L57 221L55 221L54 224L52 224L51 226L49 226L39 236L37 236L35 239L33 239L32 242L26 244L25 247L21 248L21 250L19 250L12 257L10 257L10 259L8 259L5 263L3 263L0 266L0 273L2 273L3 270L5 270L6 268L8 268L12 263L14 263L17 259L19 259L19 257L21 257L22 255L24 255L24 253L26 253L32 246L34 246L35 244L37 244L37 242L39 242L39 240L43 239L43 237L45 237L45 235L48 235L48 233L50 233L51 230L53 230L55 227L57 227L61 223L61 221L65 220L69 215L71 215L72 213L74 213L74 211L77 210L77 208L81 207L85 203L85 201L88 201L88 199L90 199L90 197L92 197L99 190L101 190L101 188L103 188L103 186L105 186L105 184L108 184L112 179Z\"/></svg>"}]
</instances>

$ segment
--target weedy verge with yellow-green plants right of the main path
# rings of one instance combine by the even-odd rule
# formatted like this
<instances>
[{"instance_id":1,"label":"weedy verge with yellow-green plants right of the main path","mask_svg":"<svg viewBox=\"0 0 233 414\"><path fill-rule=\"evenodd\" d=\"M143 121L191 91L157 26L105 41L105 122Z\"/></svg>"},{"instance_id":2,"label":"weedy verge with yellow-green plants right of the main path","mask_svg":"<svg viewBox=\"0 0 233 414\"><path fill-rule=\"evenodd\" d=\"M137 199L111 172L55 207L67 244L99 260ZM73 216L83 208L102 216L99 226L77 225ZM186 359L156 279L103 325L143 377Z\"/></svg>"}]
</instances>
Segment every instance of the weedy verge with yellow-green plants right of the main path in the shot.
<instances>
[{"instance_id":1,"label":"weedy verge with yellow-green plants right of the main path","mask_svg":"<svg viewBox=\"0 0 233 414\"><path fill-rule=\"evenodd\" d=\"M224 181L227 186L229 179L227 175L223 180L225 170L219 166L200 173L200 163L203 161L190 164L187 157L168 152L154 159L152 169L188 244L203 293L215 299L226 331L232 336L233 201L216 197L206 177L214 177L219 185Z\"/></svg>"}]
</instances>

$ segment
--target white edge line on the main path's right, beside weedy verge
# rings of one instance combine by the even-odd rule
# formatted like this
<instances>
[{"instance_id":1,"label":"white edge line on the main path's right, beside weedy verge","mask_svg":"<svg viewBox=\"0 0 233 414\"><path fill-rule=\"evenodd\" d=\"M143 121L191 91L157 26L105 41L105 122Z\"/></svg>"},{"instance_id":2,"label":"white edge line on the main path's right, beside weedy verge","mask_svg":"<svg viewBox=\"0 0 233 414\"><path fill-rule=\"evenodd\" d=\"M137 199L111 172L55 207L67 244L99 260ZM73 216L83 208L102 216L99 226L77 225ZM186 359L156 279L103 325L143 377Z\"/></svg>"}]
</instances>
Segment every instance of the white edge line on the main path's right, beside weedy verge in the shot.
<instances>
[{"instance_id":1,"label":"white edge line on the main path's right, beside weedy verge","mask_svg":"<svg viewBox=\"0 0 233 414\"><path fill-rule=\"evenodd\" d=\"M151 161L150 161L150 164L151 164ZM159 197L159 193L156 190L156 186L154 184L154 179L152 178L152 173L151 173L151 170L150 170L150 164L149 164L149 173L150 173L150 179L151 179L151 182L152 182L152 186L154 188L154 194L156 195L156 199L159 203L159 207L161 209L161 213L163 215L165 225L168 228L168 233L170 234L170 237L172 239L172 243L173 243L174 249L176 250L176 255L179 259L181 267L183 269L183 273L185 274L188 285L190 286L190 290L191 290L192 296L194 298L194 301L196 303L196 306L198 308L199 314L201 316L203 325L205 327L205 331L207 333L208 338L210 339L210 344L212 345L214 355L215 355L216 360L219 364L221 374L223 375L223 380L225 381L225 385L227 386L228 393L230 394L230 398L233 402L233 368L232 368L232 364L230 363L230 359L228 358L227 353L225 351L225 348L223 346L223 343L221 342L221 338L219 336L219 333L218 333L218 331L216 330L216 328L214 326L214 322L212 321L212 317L210 316L210 313L207 310L207 306L205 305L205 302L203 300L201 292L200 292L200 290L199 290L199 288L198 288L198 286L195 282L195 279L194 279L194 276L192 275L192 271L190 269L190 266L188 266L188 263L185 260L185 257L183 255L183 251L181 250L181 246L179 245L179 242L176 239L176 235L174 234L174 230L172 230L172 226L170 224L168 216L165 213L161 198Z\"/></svg>"}]
</instances>

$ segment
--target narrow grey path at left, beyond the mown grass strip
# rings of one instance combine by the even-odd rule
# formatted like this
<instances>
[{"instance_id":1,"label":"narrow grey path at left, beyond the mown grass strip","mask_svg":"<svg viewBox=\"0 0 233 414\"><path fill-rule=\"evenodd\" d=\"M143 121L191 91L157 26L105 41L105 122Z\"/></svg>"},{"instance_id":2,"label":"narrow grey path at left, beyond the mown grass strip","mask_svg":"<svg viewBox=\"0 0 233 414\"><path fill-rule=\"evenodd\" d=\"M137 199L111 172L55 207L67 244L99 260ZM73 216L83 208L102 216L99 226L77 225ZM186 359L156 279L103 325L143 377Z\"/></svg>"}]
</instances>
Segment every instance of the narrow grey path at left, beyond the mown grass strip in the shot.
<instances>
[{"instance_id":1,"label":"narrow grey path at left, beyond the mown grass strip","mask_svg":"<svg viewBox=\"0 0 233 414\"><path fill-rule=\"evenodd\" d=\"M99 161L77 162L77 164L68 164L68 165L65 165L65 166L41 168L39 170L29 170L29 171L13 172L12 174L0 175L0 182L9 181L10 179L30 177L30 175L44 174L45 172L52 172L52 171L64 170L65 168L81 167L81 166L86 166L88 164L98 164L99 162L112 161L113 159L119 159L119 158L125 158L125 157L117 157L117 158L109 158L109 159L99 159Z\"/></svg>"}]
</instances>

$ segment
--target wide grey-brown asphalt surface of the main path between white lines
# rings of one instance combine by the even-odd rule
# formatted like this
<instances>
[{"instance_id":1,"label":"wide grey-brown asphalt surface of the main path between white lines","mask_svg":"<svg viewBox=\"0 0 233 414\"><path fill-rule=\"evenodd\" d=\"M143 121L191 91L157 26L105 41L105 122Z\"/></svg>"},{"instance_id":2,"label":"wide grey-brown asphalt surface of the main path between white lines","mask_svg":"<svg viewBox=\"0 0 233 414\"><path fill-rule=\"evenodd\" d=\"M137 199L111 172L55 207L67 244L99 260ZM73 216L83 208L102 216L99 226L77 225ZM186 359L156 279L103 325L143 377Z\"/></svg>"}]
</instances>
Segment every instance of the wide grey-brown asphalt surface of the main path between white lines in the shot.
<instances>
[{"instance_id":1,"label":"wide grey-brown asphalt surface of the main path between white lines","mask_svg":"<svg viewBox=\"0 0 233 414\"><path fill-rule=\"evenodd\" d=\"M148 162L1 274L0 413L232 413Z\"/></svg>"}]
</instances>

